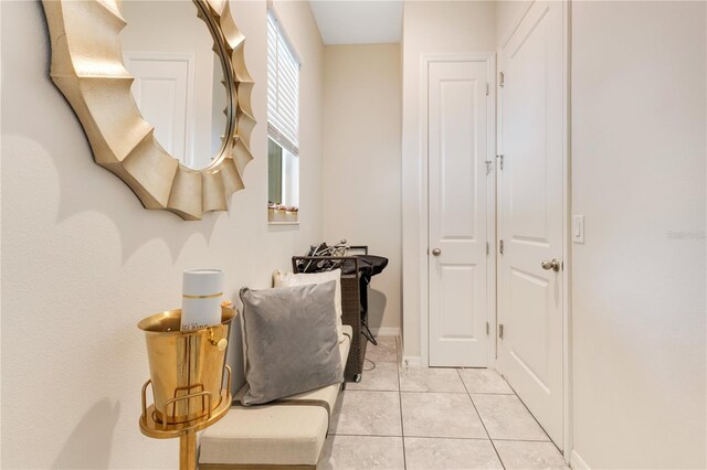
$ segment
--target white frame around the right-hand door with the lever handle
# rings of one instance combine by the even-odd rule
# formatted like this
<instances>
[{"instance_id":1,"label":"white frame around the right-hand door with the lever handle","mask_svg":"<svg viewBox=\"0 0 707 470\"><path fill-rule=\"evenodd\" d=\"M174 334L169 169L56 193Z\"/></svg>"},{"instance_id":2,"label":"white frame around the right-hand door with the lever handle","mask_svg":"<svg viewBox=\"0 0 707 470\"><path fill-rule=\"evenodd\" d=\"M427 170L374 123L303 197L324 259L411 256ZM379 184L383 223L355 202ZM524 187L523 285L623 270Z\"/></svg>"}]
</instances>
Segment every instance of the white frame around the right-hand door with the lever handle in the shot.
<instances>
[{"instance_id":1,"label":"white frame around the right-hand door with the lever handle","mask_svg":"<svg viewBox=\"0 0 707 470\"><path fill-rule=\"evenodd\" d=\"M515 19L509 32L504 36L498 46L498 71L503 72L503 57L500 52L508 44L520 22L526 18L535 1L529 2ZM572 298L571 298L571 270L572 270L572 158L571 158L571 0L561 0L562 4L562 455L569 464L573 449L572 436ZM497 129L503 129L502 109L503 95L499 93L496 106L498 108ZM502 133L497 132L496 147L503 153ZM496 188L500 188L500 173L496 172ZM500 211L498 211L500 212ZM500 259L496 258L496 263ZM500 284L500 269L496 269L496 287Z\"/></svg>"}]
</instances>

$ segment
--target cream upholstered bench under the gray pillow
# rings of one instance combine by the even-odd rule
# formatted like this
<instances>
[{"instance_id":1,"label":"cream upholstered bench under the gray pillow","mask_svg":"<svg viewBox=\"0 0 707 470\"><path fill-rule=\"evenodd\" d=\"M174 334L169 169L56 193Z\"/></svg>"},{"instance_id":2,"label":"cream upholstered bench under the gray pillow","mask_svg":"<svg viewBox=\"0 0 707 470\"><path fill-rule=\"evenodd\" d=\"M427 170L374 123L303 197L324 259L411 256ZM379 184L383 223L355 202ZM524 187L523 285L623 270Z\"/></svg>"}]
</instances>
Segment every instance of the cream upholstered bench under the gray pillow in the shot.
<instances>
[{"instance_id":1,"label":"cream upholstered bench under the gray pillow","mask_svg":"<svg viewBox=\"0 0 707 470\"><path fill-rule=\"evenodd\" d=\"M351 327L344 325L339 344L341 367L351 345ZM201 470L316 469L341 389L329 385L284 398L279 403L234 406L200 439ZM244 389L235 396L240 400Z\"/></svg>"}]
</instances>

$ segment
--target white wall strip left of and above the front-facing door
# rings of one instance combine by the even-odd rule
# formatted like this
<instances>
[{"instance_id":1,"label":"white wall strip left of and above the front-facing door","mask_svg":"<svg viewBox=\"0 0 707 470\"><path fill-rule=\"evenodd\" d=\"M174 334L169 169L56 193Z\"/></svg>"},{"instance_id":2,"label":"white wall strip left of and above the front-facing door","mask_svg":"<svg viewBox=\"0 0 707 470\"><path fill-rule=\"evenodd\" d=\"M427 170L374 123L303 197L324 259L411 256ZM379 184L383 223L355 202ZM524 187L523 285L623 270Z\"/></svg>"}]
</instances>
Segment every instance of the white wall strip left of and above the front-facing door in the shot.
<instances>
[{"instance_id":1,"label":"white wall strip left of and above the front-facing door","mask_svg":"<svg viewBox=\"0 0 707 470\"><path fill-rule=\"evenodd\" d=\"M424 53L496 50L495 3L486 1L405 1L402 40L402 256L404 355L421 354L420 63ZM426 182L424 183L426 184ZM425 247L426 249L426 247ZM426 359L423 359L423 363Z\"/></svg>"}]
</instances>

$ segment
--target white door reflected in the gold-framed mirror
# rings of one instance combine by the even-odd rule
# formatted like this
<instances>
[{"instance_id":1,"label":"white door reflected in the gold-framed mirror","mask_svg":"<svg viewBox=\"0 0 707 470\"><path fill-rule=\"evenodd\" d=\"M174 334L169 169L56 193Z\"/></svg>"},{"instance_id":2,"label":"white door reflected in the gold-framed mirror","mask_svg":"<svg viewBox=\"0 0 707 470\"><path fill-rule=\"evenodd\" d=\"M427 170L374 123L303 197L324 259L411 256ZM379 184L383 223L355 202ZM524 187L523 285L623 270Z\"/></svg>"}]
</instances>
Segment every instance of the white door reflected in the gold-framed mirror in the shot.
<instances>
[{"instance_id":1,"label":"white door reflected in the gold-framed mirror","mask_svg":"<svg viewBox=\"0 0 707 470\"><path fill-rule=\"evenodd\" d=\"M135 102L145 120L155 126L157 141L193 167L193 55L126 52L125 66L135 77Z\"/></svg>"}]
</instances>

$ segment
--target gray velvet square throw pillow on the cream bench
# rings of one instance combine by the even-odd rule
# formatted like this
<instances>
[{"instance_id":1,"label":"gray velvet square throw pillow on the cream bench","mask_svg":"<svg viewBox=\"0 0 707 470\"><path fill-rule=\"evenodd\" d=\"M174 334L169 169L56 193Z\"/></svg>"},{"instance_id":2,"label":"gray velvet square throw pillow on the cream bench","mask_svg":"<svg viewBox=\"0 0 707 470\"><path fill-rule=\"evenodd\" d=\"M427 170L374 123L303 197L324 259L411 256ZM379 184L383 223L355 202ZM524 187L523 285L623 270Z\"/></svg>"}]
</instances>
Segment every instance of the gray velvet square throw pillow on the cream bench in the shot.
<instances>
[{"instance_id":1,"label":"gray velvet square throw pillow on the cream bench","mask_svg":"<svg viewBox=\"0 0 707 470\"><path fill-rule=\"evenodd\" d=\"M241 289L245 381L243 405L257 405L341 383L336 281Z\"/></svg>"}]
</instances>

